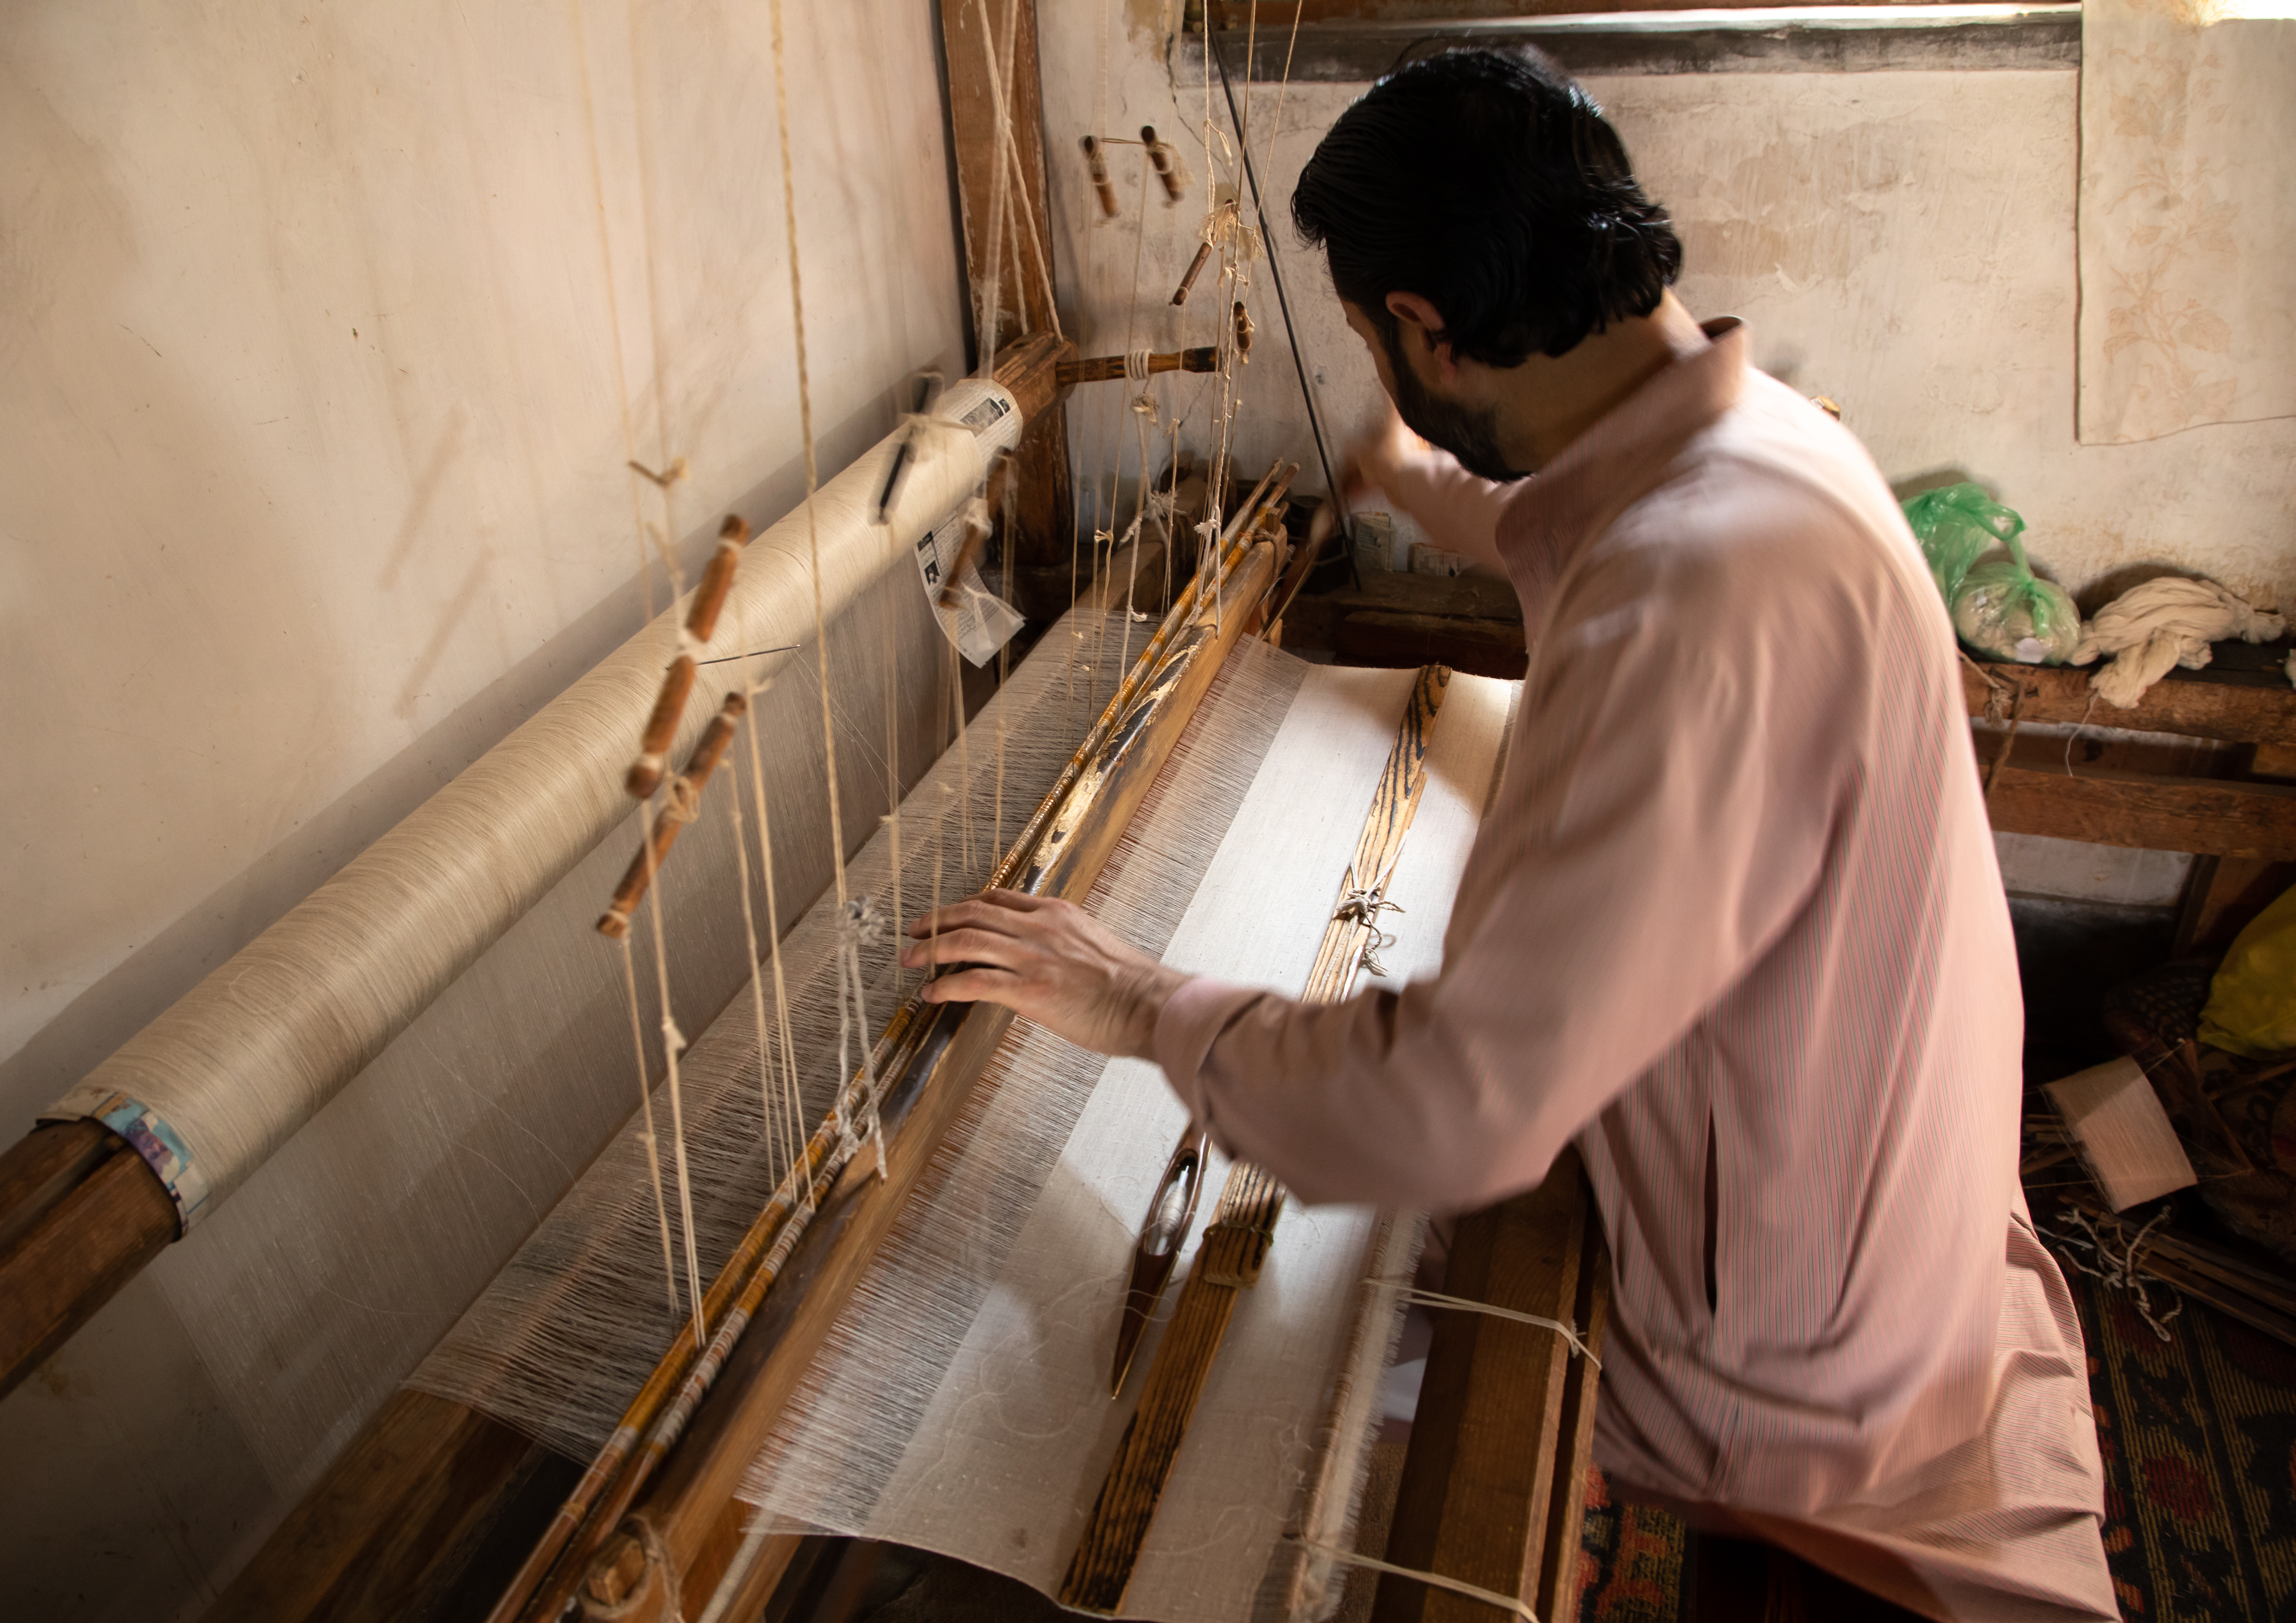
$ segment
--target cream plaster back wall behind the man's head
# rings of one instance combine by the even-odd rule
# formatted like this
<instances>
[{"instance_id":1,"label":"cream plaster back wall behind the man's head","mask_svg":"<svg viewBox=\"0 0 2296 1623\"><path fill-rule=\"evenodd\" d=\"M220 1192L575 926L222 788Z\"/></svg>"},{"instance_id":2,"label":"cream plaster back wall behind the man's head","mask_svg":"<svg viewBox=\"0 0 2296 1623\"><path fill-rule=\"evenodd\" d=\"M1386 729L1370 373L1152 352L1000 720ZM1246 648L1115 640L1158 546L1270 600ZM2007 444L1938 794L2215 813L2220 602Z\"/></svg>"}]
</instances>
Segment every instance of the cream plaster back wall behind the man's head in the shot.
<instances>
[{"instance_id":1,"label":"cream plaster back wall behind the man's head","mask_svg":"<svg viewBox=\"0 0 2296 1623\"><path fill-rule=\"evenodd\" d=\"M1127 213L1109 223L1075 156L1086 129L1137 135L1153 122L1203 174L1205 92L1173 87L1159 16L1155 0L1042 9L1058 255L1095 349L1123 347L1127 314L1132 342L1208 342L1208 301L1192 331L1164 305L1194 250L1201 191L1178 211L1150 195L1141 246L1137 154L1116 154ZM1261 41L1263 60L1279 53L1281 44ZM1242 96L1244 85L1235 90ZM1295 85L1279 126L1277 87L1263 83L1247 112L1263 131L1254 154L1302 351L1341 434L1371 413L1378 381L1341 324L1320 255L1297 246L1288 204L1316 140L1362 90ZM1993 487L2032 526L2037 562L2076 592L2128 565L2167 562L2259 601L2296 604L2296 420L2142 445L2073 438L2078 73L1616 76L1589 90L1651 193L1674 209L1685 303L1701 317L1745 317L1756 360L1841 402L1890 480L1965 473ZM1212 117L1228 124L1217 92ZM1247 370L1238 455L1244 466L1297 457L1313 475L1265 280L1254 294L1263 344ZM1109 397L1120 386L1093 388L1102 393L1084 390L1070 406L1072 427L1086 466L1104 466L1120 413ZM1166 399L1187 399L1185 388L1164 388ZM1130 429L1123 436L1130 443Z\"/></svg>"}]
</instances>

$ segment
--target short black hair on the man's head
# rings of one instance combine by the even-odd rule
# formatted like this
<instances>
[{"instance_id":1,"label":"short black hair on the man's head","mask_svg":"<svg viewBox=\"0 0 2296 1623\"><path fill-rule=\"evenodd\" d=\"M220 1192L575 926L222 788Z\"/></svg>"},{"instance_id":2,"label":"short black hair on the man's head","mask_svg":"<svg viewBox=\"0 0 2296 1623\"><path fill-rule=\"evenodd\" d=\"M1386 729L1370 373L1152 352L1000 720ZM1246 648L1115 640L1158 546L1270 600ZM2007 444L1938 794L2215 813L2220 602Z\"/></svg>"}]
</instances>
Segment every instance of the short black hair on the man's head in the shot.
<instances>
[{"instance_id":1,"label":"short black hair on the man's head","mask_svg":"<svg viewBox=\"0 0 2296 1623\"><path fill-rule=\"evenodd\" d=\"M1407 292L1442 312L1437 340L1495 367L1651 314L1683 269L1619 131L1536 51L1446 51L1382 78L1316 147L1293 220L1389 349L1387 294Z\"/></svg>"}]
</instances>

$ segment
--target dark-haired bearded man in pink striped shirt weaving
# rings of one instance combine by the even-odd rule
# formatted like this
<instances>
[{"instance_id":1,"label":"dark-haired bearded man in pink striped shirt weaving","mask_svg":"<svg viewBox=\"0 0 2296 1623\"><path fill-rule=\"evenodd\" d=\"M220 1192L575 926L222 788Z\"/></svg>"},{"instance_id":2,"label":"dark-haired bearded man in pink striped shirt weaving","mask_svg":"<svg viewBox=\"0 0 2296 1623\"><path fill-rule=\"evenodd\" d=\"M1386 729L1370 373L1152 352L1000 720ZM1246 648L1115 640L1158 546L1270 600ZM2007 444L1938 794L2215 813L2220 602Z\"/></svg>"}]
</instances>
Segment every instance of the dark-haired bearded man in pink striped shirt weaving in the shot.
<instances>
[{"instance_id":1,"label":"dark-haired bearded man in pink striped shirt weaving","mask_svg":"<svg viewBox=\"0 0 2296 1623\"><path fill-rule=\"evenodd\" d=\"M1309 1008L999 893L907 962L1159 1061L1309 1201L1467 1210L1575 1141L1621 1492L1862 1591L1814 1616L2117 1616L1954 634L1887 487L1692 321L1665 211L1543 60L1382 80L1293 213L1401 409L1352 480L1531 631L1442 973Z\"/></svg>"}]
</instances>

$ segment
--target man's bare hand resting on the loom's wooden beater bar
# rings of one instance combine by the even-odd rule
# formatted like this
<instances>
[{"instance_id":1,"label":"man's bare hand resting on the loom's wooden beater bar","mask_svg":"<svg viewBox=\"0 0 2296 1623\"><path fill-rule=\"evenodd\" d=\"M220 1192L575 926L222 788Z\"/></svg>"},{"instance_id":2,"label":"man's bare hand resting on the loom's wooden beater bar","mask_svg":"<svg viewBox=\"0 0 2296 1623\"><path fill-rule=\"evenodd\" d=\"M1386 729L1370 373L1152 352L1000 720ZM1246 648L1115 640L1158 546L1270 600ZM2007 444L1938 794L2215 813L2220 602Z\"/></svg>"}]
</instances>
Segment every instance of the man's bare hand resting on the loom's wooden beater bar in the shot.
<instances>
[{"instance_id":1,"label":"man's bare hand resting on the loom's wooden beater bar","mask_svg":"<svg viewBox=\"0 0 2296 1623\"><path fill-rule=\"evenodd\" d=\"M1164 999L1187 976L1137 953L1075 902L1019 891L983 891L925 914L900 962L962 964L925 983L928 1003L1003 1003L1093 1049L1150 1058Z\"/></svg>"}]
</instances>

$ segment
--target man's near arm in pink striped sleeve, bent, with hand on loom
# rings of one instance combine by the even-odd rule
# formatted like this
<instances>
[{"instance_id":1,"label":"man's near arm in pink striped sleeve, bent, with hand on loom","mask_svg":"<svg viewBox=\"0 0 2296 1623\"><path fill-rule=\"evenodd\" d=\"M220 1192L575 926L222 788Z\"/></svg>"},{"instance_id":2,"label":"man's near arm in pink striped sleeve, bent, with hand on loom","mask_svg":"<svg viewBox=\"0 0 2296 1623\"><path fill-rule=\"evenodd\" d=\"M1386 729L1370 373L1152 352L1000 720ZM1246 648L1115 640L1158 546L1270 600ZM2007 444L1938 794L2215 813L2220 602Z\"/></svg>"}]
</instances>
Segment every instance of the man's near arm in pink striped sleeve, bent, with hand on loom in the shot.
<instances>
[{"instance_id":1,"label":"man's near arm in pink striped sleeve, bent, with hand on loom","mask_svg":"<svg viewBox=\"0 0 2296 1623\"><path fill-rule=\"evenodd\" d=\"M1857 739L1839 604L1761 558L1653 553L1573 581L1435 980L1306 1005L996 898L921 921L941 937L907 962L974 964L934 1001L1155 1058L1306 1201L1467 1210L1538 1182L1807 902Z\"/></svg>"}]
</instances>

